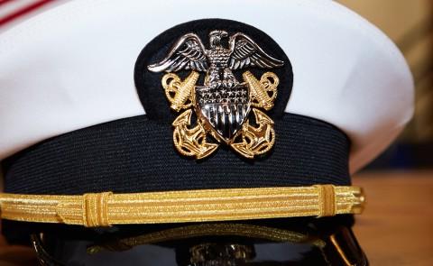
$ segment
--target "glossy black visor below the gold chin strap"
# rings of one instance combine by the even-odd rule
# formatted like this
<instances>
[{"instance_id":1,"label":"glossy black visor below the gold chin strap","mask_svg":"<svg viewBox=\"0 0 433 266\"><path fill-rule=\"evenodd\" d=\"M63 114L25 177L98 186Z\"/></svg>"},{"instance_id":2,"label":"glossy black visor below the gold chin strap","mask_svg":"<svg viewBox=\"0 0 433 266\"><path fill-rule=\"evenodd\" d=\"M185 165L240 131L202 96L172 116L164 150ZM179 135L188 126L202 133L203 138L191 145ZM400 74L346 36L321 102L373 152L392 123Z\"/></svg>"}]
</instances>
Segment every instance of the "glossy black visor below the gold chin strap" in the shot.
<instances>
[{"instance_id":1,"label":"glossy black visor below the gold chin strap","mask_svg":"<svg viewBox=\"0 0 433 266\"><path fill-rule=\"evenodd\" d=\"M344 216L120 226L33 234L32 243L54 265L368 265L350 224Z\"/></svg>"}]
</instances>

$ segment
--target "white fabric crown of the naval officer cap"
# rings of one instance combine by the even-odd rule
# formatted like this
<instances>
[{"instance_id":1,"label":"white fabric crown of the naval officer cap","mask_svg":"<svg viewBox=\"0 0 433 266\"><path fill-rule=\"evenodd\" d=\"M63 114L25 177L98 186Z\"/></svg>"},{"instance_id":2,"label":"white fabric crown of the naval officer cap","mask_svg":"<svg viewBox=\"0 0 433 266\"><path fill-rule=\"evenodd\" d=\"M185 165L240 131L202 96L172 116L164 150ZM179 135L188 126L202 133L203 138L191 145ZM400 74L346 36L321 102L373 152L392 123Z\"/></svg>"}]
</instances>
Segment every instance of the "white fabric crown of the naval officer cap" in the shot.
<instances>
[{"instance_id":1,"label":"white fabric crown of the naval officer cap","mask_svg":"<svg viewBox=\"0 0 433 266\"><path fill-rule=\"evenodd\" d=\"M201 18L251 24L281 45L294 72L286 111L347 133L352 172L410 120L413 84L400 51L332 1L75 0L0 34L0 160L61 133L143 115L139 52Z\"/></svg>"}]
</instances>

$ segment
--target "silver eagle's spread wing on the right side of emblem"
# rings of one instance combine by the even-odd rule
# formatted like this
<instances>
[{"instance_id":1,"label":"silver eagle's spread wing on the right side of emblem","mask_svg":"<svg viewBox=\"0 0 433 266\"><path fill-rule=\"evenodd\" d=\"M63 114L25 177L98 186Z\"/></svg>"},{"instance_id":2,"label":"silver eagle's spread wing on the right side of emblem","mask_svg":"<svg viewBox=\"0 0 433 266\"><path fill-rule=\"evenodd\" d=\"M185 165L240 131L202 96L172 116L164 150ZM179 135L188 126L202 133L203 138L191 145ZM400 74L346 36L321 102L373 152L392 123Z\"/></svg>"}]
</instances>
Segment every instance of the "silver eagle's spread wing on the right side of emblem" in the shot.
<instances>
[{"instance_id":1,"label":"silver eagle's spread wing on the right side of emblem","mask_svg":"<svg viewBox=\"0 0 433 266\"><path fill-rule=\"evenodd\" d=\"M264 52L250 37L238 32L230 37L230 49L233 51L229 61L230 69L243 69L246 67L259 67L272 69L281 67L284 62L272 58Z\"/></svg>"}]
</instances>

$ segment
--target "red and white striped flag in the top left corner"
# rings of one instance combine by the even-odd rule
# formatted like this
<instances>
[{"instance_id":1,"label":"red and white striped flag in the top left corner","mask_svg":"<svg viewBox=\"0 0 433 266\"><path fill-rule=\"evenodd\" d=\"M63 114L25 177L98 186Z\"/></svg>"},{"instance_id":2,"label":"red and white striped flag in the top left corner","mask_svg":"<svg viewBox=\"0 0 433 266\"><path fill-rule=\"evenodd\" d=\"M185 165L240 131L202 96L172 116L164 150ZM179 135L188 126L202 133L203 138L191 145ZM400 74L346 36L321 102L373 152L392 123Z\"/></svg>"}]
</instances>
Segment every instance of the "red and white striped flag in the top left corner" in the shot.
<instances>
[{"instance_id":1,"label":"red and white striped flag in the top left corner","mask_svg":"<svg viewBox=\"0 0 433 266\"><path fill-rule=\"evenodd\" d=\"M0 31L64 0L0 0Z\"/></svg>"}]
</instances>

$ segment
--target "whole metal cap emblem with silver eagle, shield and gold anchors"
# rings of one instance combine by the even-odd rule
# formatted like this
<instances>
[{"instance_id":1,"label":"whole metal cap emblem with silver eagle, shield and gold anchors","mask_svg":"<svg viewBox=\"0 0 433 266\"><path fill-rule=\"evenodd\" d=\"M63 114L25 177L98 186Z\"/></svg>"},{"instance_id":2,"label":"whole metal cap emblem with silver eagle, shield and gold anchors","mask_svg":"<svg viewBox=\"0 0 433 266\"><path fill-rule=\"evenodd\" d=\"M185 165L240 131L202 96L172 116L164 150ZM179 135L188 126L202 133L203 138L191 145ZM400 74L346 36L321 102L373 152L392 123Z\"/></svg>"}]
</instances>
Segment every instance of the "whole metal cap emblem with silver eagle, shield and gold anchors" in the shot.
<instances>
[{"instance_id":1,"label":"whole metal cap emblem with silver eagle, shield and gold anchors","mask_svg":"<svg viewBox=\"0 0 433 266\"><path fill-rule=\"evenodd\" d=\"M228 48L221 43L228 39ZM233 71L257 68L273 69L284 62L268 55L242 32L228 36L226 31L209 33L210 49L206 49L195 33L180 37L160 62L148 66L153 72L165 71L162 87L170 108L180 112L173 122L173 141L183 155L205 158L217 150L220 142L230 145L246 158L263 154L275 142L273 121L264 110L273 107L279 78L272 72L260 79L246 70L243 82ZM190 70L184 80L174 74ZM203 86L198 86L198 72L206 72ZM191 127L194 109L197 124ZM253 121L250 121L253 111Z\"/></svg>"}]
</instances>

